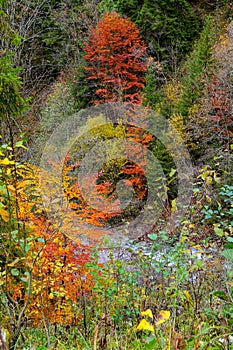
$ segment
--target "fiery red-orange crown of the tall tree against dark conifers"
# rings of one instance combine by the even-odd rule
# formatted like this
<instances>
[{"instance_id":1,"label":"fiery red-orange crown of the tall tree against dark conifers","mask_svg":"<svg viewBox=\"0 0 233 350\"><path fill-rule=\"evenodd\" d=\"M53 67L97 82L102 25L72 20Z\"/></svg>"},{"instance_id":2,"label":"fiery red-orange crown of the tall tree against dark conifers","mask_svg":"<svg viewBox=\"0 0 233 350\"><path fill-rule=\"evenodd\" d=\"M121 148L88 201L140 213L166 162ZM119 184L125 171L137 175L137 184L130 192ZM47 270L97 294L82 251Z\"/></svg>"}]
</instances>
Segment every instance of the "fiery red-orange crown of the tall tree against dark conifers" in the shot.
<instances>
[{"instance_id":1,"label":"fiery red-orange crown of the tall tree against dark conifers","mask_svg":"<svg viewBox=\"0 0 233 350\"><path fill-rule=\"evenodd\" d=\"M130 19L116 12L105 13L91 28L85 45L85 70L94 104L104 102L140 103L145 82L143 62L146 46Z\"/></svg>"}]
</instances>

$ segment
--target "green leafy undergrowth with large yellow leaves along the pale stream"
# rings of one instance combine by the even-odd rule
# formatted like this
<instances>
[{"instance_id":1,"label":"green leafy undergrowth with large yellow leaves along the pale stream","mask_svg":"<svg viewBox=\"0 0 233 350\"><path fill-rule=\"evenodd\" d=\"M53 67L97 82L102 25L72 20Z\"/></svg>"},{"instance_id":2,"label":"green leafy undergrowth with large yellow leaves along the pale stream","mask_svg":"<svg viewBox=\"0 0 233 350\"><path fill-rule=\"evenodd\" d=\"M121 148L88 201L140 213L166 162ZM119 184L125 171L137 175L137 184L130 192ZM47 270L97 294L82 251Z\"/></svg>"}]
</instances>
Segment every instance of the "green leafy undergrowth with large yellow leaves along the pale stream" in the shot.
<instances>
[{"instance_id":1,"label":"green leafy undergrowth with large yellow leaves along the pale stream","mask_svg":"<svg viewBox=\"0 0 233 350\"><path fill-rule=\"evenodd\" d=\"M42 324L28 327L23 349L233 349L233 239L218 252L185 230L165 249L150 236L150 254L140 245L128 260L108 250L101 265L96 248L86 264L94 286L77 301L76 324L49 324L49 339Z\"/></svg>"}]
</instances>

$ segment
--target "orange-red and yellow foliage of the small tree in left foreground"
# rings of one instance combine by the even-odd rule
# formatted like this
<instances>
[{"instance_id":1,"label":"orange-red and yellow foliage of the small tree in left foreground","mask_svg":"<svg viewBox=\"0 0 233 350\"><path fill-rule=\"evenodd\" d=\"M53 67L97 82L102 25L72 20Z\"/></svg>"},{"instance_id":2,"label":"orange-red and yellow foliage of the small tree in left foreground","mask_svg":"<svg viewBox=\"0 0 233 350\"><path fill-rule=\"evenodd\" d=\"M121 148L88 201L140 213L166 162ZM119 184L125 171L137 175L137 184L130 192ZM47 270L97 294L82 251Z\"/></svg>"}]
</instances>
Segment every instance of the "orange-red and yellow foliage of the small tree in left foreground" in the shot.
<instances>
[{"instance_id":1,"label":"orange-red and yellow foliage of the small tree in left foreground","mask_svg":"<svg viewBox=\"0 0 233 350\"><path fill-rule=\"evenodd\" d=\"M38 191L37 168L21 167L19 172L22 180L17 184L18 215L27 234L22 259L25 266L19 270L32 273L26 317L35 326L78 324L82 321L79 307L83 295L88 296L93 285L85 266L90 250L62 234L46 217ZM22 281L12 276L9 284L11 297L17 302L28 298L29 274L22 276Z\"/></svg>"}]
</instances>

